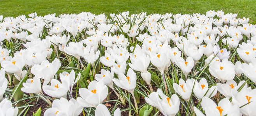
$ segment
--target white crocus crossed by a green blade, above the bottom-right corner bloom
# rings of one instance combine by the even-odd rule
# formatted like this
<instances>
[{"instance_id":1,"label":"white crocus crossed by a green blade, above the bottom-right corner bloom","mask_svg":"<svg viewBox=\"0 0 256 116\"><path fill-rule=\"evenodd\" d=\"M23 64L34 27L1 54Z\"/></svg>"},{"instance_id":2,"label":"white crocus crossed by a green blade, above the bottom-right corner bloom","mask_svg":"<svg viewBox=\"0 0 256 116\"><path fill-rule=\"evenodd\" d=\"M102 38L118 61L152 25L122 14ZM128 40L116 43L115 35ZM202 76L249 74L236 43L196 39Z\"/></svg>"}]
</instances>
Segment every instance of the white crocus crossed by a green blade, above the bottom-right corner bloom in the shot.
<instances>
[{"instance_id":1,"label":"white crocus crossed by a green blade, above the bottom-right corner bloom","mask_svg":"<svg viewBox=\"0 0 256 116\"><path fill-rule=\"evenodd\" d=\"M232 89L239 89L243 84L245 83L244 80L242 80L241 82L239 82L239 84L237 85L237 83L234 80L227 80L225 84L221 84L221 83L217 83L217 88L218 91L225 97L227 97L228 99L230 99L231 97L231 90ZM244 87L242 89L247 89L247 84L244 85Z\"/></svg>"}]
</instances>

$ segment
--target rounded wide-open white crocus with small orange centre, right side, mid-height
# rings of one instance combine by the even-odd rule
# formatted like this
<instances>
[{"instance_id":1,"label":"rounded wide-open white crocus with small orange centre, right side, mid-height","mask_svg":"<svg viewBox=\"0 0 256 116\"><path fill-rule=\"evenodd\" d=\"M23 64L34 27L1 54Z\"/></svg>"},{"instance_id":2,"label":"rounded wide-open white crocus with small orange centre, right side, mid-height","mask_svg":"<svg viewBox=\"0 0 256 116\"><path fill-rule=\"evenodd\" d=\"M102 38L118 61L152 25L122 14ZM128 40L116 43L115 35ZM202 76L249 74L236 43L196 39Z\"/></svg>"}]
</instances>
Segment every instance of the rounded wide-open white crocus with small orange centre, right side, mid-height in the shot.
<instances>
[{"instance_id":1,"label":"rounded wide-open white crocus with small orange centre, right side, mid-height","mask_svg":"<svg viewBox=\"0 0 256 116\"><path fill-rule=\"evenodd\" d=\"M235 77L235 65L228 59L214 61L209 67L209 72L222 83Z\"/></svg>"}]
</instances>

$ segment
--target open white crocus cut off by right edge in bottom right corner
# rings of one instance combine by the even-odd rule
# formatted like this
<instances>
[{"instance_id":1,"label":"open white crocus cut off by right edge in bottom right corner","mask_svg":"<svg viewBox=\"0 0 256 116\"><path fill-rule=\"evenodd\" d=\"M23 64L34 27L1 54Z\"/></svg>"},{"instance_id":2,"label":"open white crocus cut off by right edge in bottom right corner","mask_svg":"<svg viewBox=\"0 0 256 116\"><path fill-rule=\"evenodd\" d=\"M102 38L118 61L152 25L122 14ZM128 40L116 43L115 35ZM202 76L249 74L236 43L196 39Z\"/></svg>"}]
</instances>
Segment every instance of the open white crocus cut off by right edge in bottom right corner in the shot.
<instances>
[{"instance_id":1,"label":"open white crocus cut off by right edge in bottom right corner","mask_svg":"<svg viewBox=\"0 0 256 116\"><path fill-rule=\"evenodd\" d=\"M231 97L234 105L243 106L240 108L240 113L244 114L244 116L253 116L256 114L256 89L242 89L240 92L232 89Z\"/></svg>"}]
</instances>

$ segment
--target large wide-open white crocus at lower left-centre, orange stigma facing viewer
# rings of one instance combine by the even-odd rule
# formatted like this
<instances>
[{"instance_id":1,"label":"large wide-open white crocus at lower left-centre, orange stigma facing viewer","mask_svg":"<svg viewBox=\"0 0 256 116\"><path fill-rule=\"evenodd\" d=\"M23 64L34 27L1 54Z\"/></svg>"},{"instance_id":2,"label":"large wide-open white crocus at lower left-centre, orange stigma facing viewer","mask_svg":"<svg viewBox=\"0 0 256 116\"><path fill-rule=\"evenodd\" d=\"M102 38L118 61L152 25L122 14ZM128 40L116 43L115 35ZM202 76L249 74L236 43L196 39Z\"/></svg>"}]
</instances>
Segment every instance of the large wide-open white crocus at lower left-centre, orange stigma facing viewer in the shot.
<instances>
[{"instance_id":1,"label":"large wide-open white crocus at lower left-centre, orange stigma facing viewer","mask_svg":"<svg viewBox=\"0 0 256 116\"><path fill-rule=\"evenodd\" d=\"M97 107L102 104L103 100L108 96L108 87L102 81L96 80L90 82L88 89L80 88L77 101L83 107Z\"/></svg>"}]
</instances>

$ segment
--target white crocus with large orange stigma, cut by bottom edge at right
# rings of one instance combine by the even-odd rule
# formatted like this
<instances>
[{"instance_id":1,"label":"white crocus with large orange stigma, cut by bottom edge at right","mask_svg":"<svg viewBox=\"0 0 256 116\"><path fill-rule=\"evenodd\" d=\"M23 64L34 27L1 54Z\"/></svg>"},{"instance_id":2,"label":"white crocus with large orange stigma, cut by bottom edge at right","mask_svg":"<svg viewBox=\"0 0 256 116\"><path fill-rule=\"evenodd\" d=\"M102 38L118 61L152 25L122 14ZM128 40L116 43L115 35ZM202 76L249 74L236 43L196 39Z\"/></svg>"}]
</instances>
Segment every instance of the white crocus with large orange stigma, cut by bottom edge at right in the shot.
<instances>
[{"instance_id":1,"label":"white crocus with large orange stigma, cut by bottom edge at right","mask_svg":"<svg viewBox=\"0 0 256 116\"><path fill-rule=\"evenodd\" d=\"M215 104L212 99L208 97L203 97L201 106L205 111L206 116L240 116L240 110L238 105L233 105L228 100L224 98L219 101L218 105Z\"/></svg>"}]
</instances>

